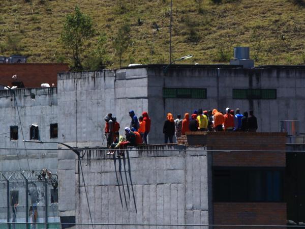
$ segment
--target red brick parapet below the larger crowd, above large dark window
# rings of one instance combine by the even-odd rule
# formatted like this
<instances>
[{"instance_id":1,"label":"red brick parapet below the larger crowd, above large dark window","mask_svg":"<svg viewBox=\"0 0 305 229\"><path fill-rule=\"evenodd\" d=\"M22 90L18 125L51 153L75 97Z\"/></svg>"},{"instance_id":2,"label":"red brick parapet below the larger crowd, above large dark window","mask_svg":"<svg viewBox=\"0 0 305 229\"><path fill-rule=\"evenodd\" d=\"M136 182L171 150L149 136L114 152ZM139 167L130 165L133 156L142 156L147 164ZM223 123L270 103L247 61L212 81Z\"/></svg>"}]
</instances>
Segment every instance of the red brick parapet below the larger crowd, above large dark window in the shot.
<instances>
[{"instance_id":1,"label":"red brick parapet below the larger crowd, above large dark window","mask_svg":"<svg viewBox=\"0 0 305 229\"><path fill-rule=\"evenodd\" d=\"M213 166L286 166L285 152L234 152L232 150L285 151L286 133L260 132L189 132L180 144L203 145L213 152Z\"/></svg>"}]
</instances>

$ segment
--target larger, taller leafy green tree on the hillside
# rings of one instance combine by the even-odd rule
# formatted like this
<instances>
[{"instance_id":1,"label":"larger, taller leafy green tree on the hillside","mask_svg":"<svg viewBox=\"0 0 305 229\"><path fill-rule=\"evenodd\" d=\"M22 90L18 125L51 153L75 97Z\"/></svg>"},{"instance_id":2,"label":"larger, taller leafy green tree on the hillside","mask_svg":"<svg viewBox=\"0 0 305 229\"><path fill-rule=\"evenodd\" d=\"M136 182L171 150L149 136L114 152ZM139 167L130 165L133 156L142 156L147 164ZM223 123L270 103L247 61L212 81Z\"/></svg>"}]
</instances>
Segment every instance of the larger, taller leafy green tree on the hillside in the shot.
<instances>
[{"instance_id":1,"label":"larger, taller leafy green tree on the hillside","mask_svg":"<svg viewBox=\"0 0 305 229\"><path fill-rule=\"evenodd\" d=\"M60 40L66 51L72 55L74 69L82 69L80 56L85 49L84 43L93 37L94 32L92 18L83 14L78 6L74 13L66 16Z\"/></svg>"}]
</instances>

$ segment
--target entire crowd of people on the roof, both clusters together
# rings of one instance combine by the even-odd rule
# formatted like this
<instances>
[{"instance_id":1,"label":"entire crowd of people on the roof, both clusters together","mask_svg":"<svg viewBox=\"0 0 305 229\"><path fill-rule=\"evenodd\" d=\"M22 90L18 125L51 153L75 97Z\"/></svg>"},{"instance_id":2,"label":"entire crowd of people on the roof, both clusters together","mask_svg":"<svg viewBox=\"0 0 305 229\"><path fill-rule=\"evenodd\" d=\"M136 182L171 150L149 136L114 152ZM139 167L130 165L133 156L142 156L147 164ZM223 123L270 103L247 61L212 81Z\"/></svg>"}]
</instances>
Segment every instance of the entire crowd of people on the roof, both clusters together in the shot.
<instances>
[{"instance_id":1,"label":"entire crowd of people on the roof, both clusters together","mask_svg":"<svg viewBox=\"0 0 305 229\"><path fill-rule=\"evenodd\" d=\"M119 123L111 113L105 116L105 137L107 137L107 147L118 149L125 145L137 146L147 144L147 136L150 131L151 120L148 113L144 111L139 118L133 110L129 111L131 118L130 127L125 127L125 136L119 135ZM229 107L226 108L225 114L217 109L213 110L194 110L190 116L185 113L184 119L181 115L177 115L174 120L171 113L167 113L166 120L163 125L164 143L173 143L173 136L176 139L181 135L185 135L189 131L249 131L256 132L257 118L253 114L253 110L243 112L237 108L234 112ZM110 151L108 154L113 154Z\"/></svg>"}]
</instances>

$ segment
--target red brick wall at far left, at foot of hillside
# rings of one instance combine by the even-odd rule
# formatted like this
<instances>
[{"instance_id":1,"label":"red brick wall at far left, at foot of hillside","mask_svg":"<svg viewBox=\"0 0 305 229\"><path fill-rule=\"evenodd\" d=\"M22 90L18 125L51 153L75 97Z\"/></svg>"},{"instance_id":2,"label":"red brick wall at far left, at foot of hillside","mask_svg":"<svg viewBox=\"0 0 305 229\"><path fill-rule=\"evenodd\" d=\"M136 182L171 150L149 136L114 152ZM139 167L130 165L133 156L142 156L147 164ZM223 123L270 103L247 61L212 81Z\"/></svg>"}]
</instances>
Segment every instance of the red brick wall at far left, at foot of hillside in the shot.
<instances>
[{"instance_id":1,"label":"red brick wall at far left, at foot of hillside","mask_svg":"<svg viewBox=\"0 0 305 229\"><path fill-rule=\"evenodd\" d=\"M57 86L57 73L69 71L68 64L0 64L0 84L12 85L12 76L26 88L40 88L42 83Z\"/></svg>"}]
</instances>

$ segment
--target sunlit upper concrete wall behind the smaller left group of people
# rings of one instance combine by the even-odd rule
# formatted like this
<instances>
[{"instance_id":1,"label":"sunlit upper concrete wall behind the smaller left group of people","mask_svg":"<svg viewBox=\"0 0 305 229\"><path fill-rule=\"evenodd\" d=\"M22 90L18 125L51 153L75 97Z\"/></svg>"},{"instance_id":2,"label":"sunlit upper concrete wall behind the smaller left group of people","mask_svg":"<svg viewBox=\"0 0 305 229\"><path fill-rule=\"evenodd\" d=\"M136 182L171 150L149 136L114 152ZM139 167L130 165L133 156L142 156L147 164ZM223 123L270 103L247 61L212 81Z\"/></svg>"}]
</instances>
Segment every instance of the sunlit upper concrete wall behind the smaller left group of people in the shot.
<instances>
[{"instance_id":1,"label":"sunlit upper concrete wall behind the smaller left group of people","mask_svg":"<svg viewBox=\"0 0 305 229\"><path fill-rule=\"evenodd\" d=\"M102 146L107 113L130 126L129 110L147 110L146 69L58 74L59 140L75 146ZM106 140L104 141L104 146Z\"/></svg>"}]
</instances>

